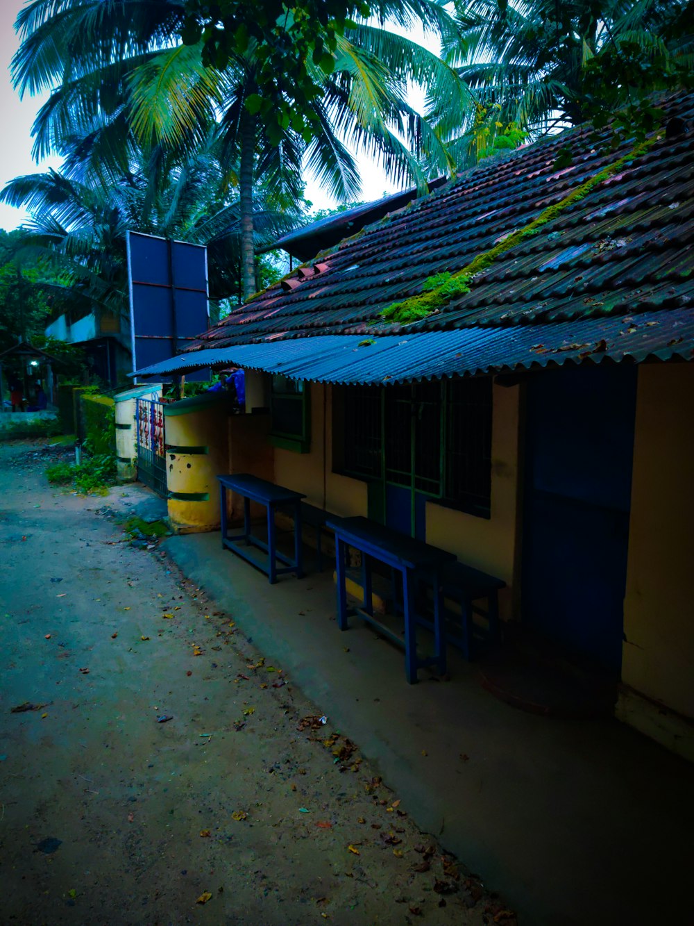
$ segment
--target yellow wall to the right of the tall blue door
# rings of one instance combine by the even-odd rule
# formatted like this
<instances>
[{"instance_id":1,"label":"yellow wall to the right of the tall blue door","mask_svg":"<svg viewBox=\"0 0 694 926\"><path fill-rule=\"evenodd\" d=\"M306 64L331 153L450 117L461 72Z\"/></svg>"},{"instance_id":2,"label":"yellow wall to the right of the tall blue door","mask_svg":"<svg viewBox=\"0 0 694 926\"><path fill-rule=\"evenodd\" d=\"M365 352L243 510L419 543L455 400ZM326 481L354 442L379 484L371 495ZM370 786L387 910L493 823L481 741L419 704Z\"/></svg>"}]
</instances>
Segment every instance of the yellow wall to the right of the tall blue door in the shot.
<instances>
[{"instance_id":1,"label":"yellow wall to the right of the tall blue door","mask_svg":"<svg viewBox=\"0 0 694 926\"><path fill-rule=\"evenodd\" d=\"M694 719L694 364L638 369L622 680Z\"/></svg>"}]
</instances>

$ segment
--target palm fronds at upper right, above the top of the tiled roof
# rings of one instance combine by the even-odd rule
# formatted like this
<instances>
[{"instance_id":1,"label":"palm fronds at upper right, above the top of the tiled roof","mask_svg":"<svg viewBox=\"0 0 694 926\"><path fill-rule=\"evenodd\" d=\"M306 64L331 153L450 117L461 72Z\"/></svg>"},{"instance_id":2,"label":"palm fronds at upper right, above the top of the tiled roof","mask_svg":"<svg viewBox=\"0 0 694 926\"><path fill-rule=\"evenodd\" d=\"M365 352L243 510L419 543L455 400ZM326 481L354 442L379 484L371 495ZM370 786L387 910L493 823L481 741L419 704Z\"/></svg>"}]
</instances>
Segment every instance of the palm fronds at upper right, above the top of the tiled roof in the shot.
<instances>
[{"instance_id":1,"label":"palm fronds at upper right, above the top of the tiled roof","mask_svg":"<svg viewBox=\"0 0 694 926\"><path fill-rule=\"evenodd\" d=\"M480 108L468 114L468 132L476 119L478 128L482 110L487 127L512 124L533 138L585 121L594 109L586 66L601 56L602 67L613 56L619 76L620 56L626 61L633 48L644 64L655 56L666 68L682 56L690 60L683 44L687 34L691 44L687 0L456 0L455 7L463 41L444 39L443 56L477 94ZM602 102L623 105L628 81L609 82L602 81ZM659 89L657 81L651 89Z\"/></svg>"}]
</instances>

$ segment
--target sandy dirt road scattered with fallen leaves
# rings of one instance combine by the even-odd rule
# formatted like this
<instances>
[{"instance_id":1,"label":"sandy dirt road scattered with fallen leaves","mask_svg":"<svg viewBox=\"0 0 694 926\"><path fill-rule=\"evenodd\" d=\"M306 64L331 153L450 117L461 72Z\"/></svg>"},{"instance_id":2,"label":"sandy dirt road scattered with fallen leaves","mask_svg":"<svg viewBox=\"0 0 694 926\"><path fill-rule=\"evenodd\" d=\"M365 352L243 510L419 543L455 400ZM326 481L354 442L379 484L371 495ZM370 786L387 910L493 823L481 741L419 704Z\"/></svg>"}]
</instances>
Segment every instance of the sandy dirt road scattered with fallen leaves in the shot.
<instances>
[{"instance_id":1,"label":"sandy dirt road scattered with fallen leaves","mask_svg":"<svg viewBox=\"0 0 694 926\"><path fill-rule=\"evenodd\" d=\"M514 924L55 453L0 444L0 921Z\"/></svg>"}]
</instances>

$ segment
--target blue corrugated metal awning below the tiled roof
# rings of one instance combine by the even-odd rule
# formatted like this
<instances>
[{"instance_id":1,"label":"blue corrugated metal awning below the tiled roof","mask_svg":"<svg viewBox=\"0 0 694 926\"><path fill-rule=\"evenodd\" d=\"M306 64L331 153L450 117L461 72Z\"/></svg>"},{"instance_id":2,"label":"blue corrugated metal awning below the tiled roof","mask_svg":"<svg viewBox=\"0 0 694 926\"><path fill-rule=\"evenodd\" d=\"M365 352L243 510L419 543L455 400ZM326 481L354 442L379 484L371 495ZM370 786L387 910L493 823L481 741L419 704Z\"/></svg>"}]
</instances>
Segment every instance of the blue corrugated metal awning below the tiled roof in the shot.
<instances>
[{"instance_id":1,"label":"blue corrugated metal awning below the tiled roof","mask_svg":"<svg viewBox=\"0 0 694 926\"><path fill-rule=\"evenodd\" d=\"M605 357L636 362L694 357L694 310L649 312L514 328L466 328L409 335L327 334L236 344L180 354L135 376L185 374L229 364L296 380L344 384L408 382L499 373Z\"/></svg>"}]
</instances>

